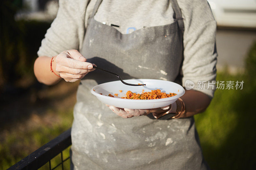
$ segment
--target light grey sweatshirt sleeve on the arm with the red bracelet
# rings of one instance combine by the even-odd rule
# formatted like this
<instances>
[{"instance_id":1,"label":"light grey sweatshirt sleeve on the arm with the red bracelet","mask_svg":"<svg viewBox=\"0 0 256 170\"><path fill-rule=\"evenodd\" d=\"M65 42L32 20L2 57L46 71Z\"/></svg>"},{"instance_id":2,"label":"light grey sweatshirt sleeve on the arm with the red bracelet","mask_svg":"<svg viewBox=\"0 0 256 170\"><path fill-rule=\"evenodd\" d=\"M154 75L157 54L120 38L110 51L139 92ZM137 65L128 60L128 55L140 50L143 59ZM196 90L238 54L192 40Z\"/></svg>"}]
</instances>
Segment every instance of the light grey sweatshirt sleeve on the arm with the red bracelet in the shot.
<instances>
[{"instance_id":1,"label":"light grey sweatshirt sleeve on the arm with the red bracelet","mask_svg":"<svg viewBox=\"0 0 256 170\"><path fill-rule=\"evenodd\" d=\"M54 56L68 49L78 49L77 9L70 5L68 0L59 1L59 10L51 27L42 40L38 56Z\"/></svg>"}]
</instances>

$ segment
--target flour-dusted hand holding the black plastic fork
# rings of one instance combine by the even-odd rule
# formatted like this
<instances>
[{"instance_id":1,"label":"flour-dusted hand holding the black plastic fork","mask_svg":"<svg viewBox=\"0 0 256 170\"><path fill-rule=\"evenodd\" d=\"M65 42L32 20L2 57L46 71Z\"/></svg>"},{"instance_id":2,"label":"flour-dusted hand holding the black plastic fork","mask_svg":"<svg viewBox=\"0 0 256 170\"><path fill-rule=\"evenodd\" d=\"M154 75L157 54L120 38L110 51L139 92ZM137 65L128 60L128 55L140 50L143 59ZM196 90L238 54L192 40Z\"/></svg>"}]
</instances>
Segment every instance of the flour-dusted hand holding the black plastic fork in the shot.
<instances>
[{"instance_id":1,"label":"flour-dusted hand holding the black plastic fork","mask_svg":"<svg viewBox=\"0 0 256 170\"><path fill-rule=\"evenodd\" d=\"M86 58L79 51L71 49L61 52L57 55L56 71L60 73L60 77L68 82L75 82L84 78L84 76L95 69L92 63L87 63Z\"/></svg>"}]
</instances>

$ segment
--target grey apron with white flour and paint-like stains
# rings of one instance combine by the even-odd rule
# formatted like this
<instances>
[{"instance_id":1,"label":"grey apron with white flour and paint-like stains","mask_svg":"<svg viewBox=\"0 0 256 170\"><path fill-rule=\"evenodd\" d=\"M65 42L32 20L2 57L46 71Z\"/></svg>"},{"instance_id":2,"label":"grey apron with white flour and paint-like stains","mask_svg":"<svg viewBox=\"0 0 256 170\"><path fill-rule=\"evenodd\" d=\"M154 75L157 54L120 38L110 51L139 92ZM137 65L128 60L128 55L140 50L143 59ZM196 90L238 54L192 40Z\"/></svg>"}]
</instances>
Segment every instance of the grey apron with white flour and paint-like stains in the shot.
<instances>
[{"instance_id":1,"label":"grey apron with white flour and paint-like stains","mask_svg":"<svg viewBox=\"0 0 256 170\"><path fill-rule=\"evenodd\" d=\"M94 20L101 1L95 4L80 51L87 62L123 79L179 80L184 24L177 1L171 0L172 24L129 34ZM156 120L150 114L124 119L91 94L93 86L115 80L115 76L100 70L81 80L71 130L72 168L208 169L193 117Z\"/></svg>"}]
</instances>

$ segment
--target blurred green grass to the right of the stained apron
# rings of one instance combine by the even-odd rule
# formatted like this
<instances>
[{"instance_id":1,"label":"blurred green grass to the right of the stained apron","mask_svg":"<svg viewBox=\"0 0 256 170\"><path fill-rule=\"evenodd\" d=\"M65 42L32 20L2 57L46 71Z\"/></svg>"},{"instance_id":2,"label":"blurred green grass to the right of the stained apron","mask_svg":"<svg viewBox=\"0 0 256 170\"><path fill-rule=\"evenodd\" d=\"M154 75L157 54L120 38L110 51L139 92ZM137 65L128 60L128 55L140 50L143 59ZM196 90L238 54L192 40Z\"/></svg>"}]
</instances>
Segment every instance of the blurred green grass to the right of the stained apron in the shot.
<instances>
[{"instance_id":1,"label":"blurred green grass to the right of the stained apron","mask_svg":"<svg viewBox=\"0 0 256 170\"><path fill-rule=\"evenodd\" d=\"M244 75L219 73L217 80L242 81L243 90L217 90L207 110L195 116L204 157L212 169L255 167L255 87Z\"/></svg>"}]
</instances>

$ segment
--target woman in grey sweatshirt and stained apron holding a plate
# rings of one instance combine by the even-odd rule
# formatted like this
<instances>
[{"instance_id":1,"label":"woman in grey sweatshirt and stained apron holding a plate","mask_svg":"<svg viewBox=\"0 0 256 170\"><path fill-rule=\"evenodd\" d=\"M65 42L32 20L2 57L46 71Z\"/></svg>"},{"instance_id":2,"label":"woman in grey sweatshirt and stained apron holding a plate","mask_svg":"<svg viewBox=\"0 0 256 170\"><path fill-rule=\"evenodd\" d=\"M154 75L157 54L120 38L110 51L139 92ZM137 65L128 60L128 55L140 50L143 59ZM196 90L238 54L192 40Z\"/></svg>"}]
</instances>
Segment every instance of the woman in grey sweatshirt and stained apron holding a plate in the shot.
<instances>
[{"instance_id":1,"label":"woman in grey sweatshirt and stained apron holding a plate","mask_svg":"<svg viewBox=\"0 0 256 170\"><path fill-rule=\"evenodd\" d=\"M215 80L211 9L206 0L177 1L60 0L34 71L47 85L81 79L71 131L72 168L208 169L193 119L213 97L207 83L187 90L171 107L148 110L106 106L90 93L93 86L116 80L93 71L93 63L123 79L164 79L183 86L186 80ZM183 104L186 109L180 110ZM160 117L170 108L180 115L155 119L150 114Z\"/></svg>"}]
</instances>

